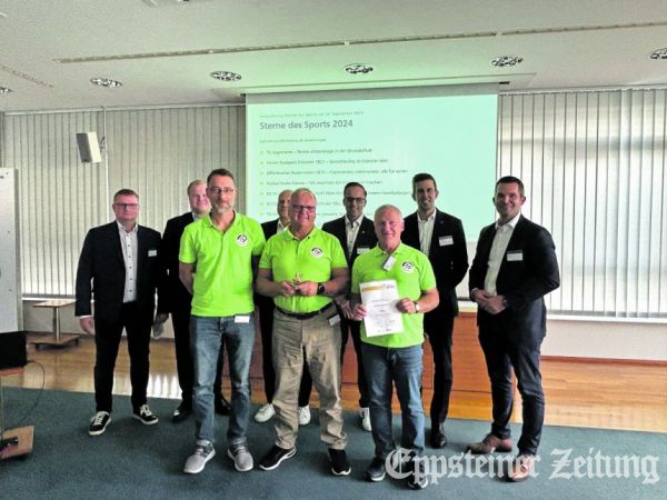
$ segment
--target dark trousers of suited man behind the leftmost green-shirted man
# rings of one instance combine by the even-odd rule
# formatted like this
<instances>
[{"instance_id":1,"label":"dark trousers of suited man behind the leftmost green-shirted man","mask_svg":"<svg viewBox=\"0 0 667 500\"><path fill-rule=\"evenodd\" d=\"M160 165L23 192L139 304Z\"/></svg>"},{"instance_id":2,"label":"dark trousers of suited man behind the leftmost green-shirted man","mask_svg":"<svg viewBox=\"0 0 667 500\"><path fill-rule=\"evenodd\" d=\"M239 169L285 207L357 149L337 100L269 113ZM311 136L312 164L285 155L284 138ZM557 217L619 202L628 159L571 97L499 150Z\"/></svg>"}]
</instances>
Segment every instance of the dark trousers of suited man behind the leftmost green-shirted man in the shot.
<instances>
[{"instance_id":1,"label":"dark trousers of suited man behind the leftmost green-shirted man","mask_svg":"<svg viewBox=\"0 0 667 500\"><path fill-rule=\"evenodd\" d=\"M176 369L178 372L178 384L181 389L183 404L192 407L192 387L195 384L195 364L190 352L190 307L177 308L171 311L171 324L173 326L173 344L176 347ZM222 369L225 367L223 343L220 344L218 366L216 369L216 382L213 393L216 398L222 396Z\"/></svg>"}]
</instances>

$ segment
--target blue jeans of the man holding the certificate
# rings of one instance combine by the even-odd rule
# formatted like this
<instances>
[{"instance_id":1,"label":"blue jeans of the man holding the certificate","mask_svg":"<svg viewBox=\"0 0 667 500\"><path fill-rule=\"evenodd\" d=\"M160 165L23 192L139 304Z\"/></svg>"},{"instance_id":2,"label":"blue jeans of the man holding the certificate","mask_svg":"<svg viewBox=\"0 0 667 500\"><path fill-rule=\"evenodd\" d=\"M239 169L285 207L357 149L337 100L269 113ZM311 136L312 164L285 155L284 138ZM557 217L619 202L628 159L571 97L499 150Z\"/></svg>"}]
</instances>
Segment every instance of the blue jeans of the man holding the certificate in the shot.
<instances>
[{"instance_id":1,"label":"blue jeans of the man holding the certificate","mask_svg":"<svg viewBox=\"0 0 667 500\"><path fill-rule=\"evenodd\" d=\"M400 446L424 454L424 406L421 404L421 346L382 348L361 342L364 370L370 397L370 424L376 457L386 459L396 449L391 428L394 382L400 403Z\"/></svg>"}]
</instances>

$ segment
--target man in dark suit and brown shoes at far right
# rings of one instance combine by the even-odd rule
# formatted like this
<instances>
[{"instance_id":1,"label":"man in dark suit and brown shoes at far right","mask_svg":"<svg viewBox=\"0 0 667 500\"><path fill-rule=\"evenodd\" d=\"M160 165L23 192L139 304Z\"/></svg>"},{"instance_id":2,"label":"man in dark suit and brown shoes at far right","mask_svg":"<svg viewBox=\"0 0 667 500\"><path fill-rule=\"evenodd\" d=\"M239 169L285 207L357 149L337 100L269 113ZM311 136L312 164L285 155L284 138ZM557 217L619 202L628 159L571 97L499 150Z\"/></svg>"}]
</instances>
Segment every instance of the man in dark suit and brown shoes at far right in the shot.
<instances>
[{"instance_id":1,"label":"man in dark suit and brown shoes at far right","mask_svg":"<svg viewBox=\"0 0 667 500\"><path fill-rule=\"evenodd\" d=\"M522 481L535 467L541 437L545 399L539 350L546 334L544 296L560 286L551 234L521 216L524 184L516 177L496 183L498 221L479 234L470 268L470 298L477 302L479 343L491 381L491 432L468 449L476 454L511 451L511 370L522 400L524 427L519 454L508 479Z\"/></svg>"}]
</instances>

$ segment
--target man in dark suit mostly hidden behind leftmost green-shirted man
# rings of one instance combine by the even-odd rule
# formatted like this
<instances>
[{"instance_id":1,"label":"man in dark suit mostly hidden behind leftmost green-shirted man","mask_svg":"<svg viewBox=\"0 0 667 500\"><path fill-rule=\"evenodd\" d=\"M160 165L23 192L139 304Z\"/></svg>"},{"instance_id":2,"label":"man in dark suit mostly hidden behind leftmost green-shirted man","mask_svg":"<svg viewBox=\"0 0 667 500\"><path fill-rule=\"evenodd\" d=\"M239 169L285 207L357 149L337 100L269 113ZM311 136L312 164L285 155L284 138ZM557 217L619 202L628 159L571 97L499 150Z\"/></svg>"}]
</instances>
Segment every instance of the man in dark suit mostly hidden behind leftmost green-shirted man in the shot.
<instances>
[{"instance_id":1,"label":"man in dark suit mostly hidden behind leftmost green-shirted man","mask_svg":"<svg viewBox=\"0 0 667 500\"><path fill-rule=\"evenodd\" d=\"M178 251L186 226L206 216L211 210L211 203L206 196L206 181L198 179L190 182L188 186L188 201L190 202L190 211L169 219L162 236L162 262L168 274L162 298L167 312L171 313L176 368L178 370L178 383L181 388L181 402L171 414L173 422L183 421L192 412L192 384L195 381L195 368L190 354L190 304L192 296L178 277ZM216 412L229 414L229 402L222 396L223 360L223 344L220 344L216 383L213 386L215 404Z\"/></svg>"}]
</instances>

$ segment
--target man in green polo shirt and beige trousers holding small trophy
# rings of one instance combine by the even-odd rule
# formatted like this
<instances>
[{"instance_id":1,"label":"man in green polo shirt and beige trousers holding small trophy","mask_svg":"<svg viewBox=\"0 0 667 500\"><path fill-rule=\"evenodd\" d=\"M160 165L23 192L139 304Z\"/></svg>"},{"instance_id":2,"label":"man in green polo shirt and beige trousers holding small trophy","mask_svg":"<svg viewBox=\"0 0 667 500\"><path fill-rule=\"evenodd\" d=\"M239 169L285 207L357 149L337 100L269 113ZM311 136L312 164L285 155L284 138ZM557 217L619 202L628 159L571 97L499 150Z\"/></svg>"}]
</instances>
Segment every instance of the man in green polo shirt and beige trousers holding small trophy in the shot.
<instances>
[{"instance_id":1,"label":"man in green polo shirt and beige trousers holding small trophy","mask_svg":"<svg viewBox=\"0 0 667 500\"><path fill-rule=\"evenodd\" d=\"M345 292L349 273L338 239L315 227L317 200L308 189L291 196L290 226L269 239L259 261L257 291L272 297L276 369L276 443L260 462L276 469L296 451L298 392L303 358L320 397L321 439L331 472L350 473L340 403L340 317L332 298Z\"/></svg>"}]
</instances>

